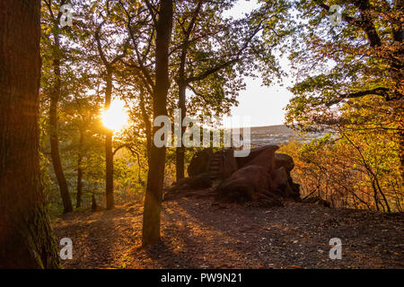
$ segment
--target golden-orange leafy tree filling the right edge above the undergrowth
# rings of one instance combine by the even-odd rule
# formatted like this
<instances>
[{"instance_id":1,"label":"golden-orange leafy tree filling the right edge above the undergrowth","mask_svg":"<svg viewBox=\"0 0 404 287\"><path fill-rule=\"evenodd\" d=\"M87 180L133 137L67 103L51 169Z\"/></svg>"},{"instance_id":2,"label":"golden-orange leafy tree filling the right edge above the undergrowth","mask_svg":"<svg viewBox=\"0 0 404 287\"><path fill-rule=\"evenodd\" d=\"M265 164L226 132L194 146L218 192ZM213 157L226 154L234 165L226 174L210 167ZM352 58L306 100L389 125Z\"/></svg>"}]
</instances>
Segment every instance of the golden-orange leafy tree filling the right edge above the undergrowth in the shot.
<instances>
[{"instance_id":1,"label":"golden-orange leafy tree filling the right edge above the undergrowth","mask_svg":"<svg viewBox=\"0 0 404 287\"><path fill-rule=\"evenodd\" d=\"M329 22L332 4L342 8L336 26ZM297 2L303 22L295 26L293 42L299 44L291 47L291 59L298 81L285 117L306 131L330 128L340 148L335 152L347 150L355 162L345 166L367 178L356 183L372 190L376 209L388 212L395 204L391 198L402 195L404 178L402 5L400 0ZM396 205L400 210L400 201Z\"/></svg>"}]
</instances>

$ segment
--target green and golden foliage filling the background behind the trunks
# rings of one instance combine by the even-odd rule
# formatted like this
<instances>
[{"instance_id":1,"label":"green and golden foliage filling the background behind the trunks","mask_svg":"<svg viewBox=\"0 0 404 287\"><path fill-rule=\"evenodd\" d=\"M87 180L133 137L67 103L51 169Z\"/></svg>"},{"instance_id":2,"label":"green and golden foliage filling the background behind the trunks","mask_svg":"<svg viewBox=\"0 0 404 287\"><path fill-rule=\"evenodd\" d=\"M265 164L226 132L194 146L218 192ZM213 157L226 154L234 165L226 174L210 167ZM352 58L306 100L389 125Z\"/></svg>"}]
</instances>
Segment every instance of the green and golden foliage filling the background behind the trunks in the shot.
<instances>
[{"instance_id":1,"label":"green and golden foliage filling the background behind the trunks","mask_svg":"<svg viewBox=\"0 0 404 287\"><path fill-rule=\"evenodd\" d=\"M152 103L158 2L150 1L150 8L138 0L73 0L73 26L60 28L57 15L64 3L44 1L41 8L41 170L48 202L52 209L60 208L48 146L48 105L56 81L55 58L60 59L62 91L58 138L71 196L75 198L81 169L84 205L89 206L92 194L102 204L106 128L100 116L110 76L112 100L124 100L130 116L129 126L113 138L115 193L122 203L140 199L156 116ZM225 16L235 3L175 2L169 115L172 117L173 109L179 106L180 83L186 83L187 115L229 114L238 104L238 92L245 88L244 77L260 76L266 85L280 81L285 72L278 58L288 54L297 81L291 88L295 97L286 107L286 123L303 131L330 131L312 143L290 145L294 147L290 152L301 162L301 171L296 173L301 172L299 177L307 181L304 188L317 188L314 178L318 180L319 174L333 178L330 174L335 165L340 168L336 172L344 177L333 180L347 188L337 187L334 182L334 194L351 195L351 199L344 199L347 206L358 204L356 193L364 188L370 197L361 199L371 208L387 208L390 204L399 210L402 191L397 178L403 157L404 122L400 102L402 71L398 68L403 66L402 39L397 38L400 7L377 1L261 0L256 9L239 19ZM359 3L368 5L359 7ZM331 4L339 4L344 10L343 22L336 27L329 23L327 7ZM371 26L377 37L371 37L372 31L367 29ZM57 50L56 35L60 38ZM97 44L104 51L103 57ZM195 152L198 148L186 152L187 162ZM168 149L166 186L173 181L174 162L174 149ZM355 170L364 174L364 179L357 178ZM309 175L307 179L304 172ZM321 188L325 187L323 179L319 180ZM372 195L374 190L376 196ZM391 197L384 201L383 194L396 196L398 203L393 203Z\"/></svg>"}]
</instances>

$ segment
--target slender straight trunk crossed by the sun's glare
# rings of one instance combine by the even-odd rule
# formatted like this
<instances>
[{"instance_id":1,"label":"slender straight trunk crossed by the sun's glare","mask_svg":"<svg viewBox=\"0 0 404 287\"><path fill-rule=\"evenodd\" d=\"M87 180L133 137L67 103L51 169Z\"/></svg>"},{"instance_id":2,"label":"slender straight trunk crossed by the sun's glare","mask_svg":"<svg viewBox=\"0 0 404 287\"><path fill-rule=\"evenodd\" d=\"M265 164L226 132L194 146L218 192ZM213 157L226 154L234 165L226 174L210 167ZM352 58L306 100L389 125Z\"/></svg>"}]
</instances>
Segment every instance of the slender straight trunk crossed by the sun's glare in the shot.
<instances>
[{"instance_id":1,"label":"slender straight trunk crossed by the sun's glare","mask_svg":"<svg viewBox=\"0 0 404 287\"><path fill-rule=\"evenodd\" d=\"M112 75L108 73L105 91L105 109L110 109L112 95ZM105 135L105 196L107 209L114 208L114 155L112 152L112 131L108 130Z\"/></svg>"}]
</instances>

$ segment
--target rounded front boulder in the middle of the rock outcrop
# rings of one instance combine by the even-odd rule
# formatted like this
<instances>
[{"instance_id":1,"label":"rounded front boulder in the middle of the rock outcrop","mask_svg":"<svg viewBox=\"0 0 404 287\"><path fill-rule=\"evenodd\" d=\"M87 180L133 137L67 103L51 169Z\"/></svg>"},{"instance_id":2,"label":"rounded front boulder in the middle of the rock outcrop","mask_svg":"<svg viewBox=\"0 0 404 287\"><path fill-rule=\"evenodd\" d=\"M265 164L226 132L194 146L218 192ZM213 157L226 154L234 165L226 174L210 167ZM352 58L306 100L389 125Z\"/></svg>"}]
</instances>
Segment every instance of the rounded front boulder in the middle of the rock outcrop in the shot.
<instances>
[{"instance_id":1,"label":"rounded front boulder in the middle of the rock outcrop","mask_svg":"<svg viewBox=\"0 0 404 287\"><path fill-rule=\"evenodd\" d=\"M216 188L217 199L224 202L256 201L259 194L268 193L269 175L259 165L249 165L234 172Z\"/></svg>"}]
</instances>

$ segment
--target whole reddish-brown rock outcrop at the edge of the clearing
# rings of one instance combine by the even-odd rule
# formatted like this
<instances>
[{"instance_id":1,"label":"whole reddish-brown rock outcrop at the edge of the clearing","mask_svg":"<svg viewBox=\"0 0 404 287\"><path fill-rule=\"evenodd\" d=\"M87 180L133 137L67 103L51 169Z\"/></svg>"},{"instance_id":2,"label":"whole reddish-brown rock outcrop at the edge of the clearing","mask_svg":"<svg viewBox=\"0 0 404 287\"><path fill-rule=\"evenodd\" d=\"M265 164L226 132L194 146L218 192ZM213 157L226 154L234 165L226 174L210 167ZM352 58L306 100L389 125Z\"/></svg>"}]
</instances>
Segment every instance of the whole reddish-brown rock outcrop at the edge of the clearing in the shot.
<instances>
[{"instance_id":1,"label":"whole reddish-brown rock outcrop at the edge of the clearing","mask_svg":"<svg viewBox=\"0 0 404 287\"><path fill-rule=\"evenodd\" d=\"M211 187L211 179L220 179L217 187L210 188L218 201L282 206L282 198L300 200L299 185L290 174L294 161L287 154L277 153L278 148L266 145L239 158L234 157L233 149L215 154L211 149L198 152L189 164L191 177L181 179L167 194Z\"/></svg>"}]
</instances>

